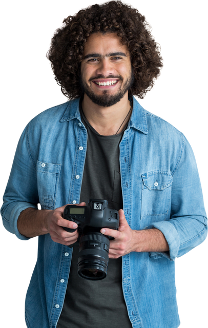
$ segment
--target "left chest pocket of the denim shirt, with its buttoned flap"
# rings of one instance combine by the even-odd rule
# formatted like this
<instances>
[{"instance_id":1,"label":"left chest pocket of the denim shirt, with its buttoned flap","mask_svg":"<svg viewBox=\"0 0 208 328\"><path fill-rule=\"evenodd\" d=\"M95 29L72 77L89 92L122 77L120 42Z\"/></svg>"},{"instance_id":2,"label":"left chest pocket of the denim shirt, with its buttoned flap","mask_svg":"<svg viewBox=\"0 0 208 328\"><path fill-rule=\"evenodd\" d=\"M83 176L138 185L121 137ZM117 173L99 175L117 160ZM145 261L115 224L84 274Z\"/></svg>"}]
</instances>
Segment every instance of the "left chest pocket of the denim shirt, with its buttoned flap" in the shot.
<instances>
[{"instance_id":1,"label":"left chest pocket of the denim shirt, with its buttoned flap","mask_svg":"<svg viewBox=\"0 0 208 328\"><path fill-rule=\"evenodd\" d=\"M37 189L42 209L51 209L55 205L60 175L60 164L37 160Z\"/></svg>"}]
</instances>

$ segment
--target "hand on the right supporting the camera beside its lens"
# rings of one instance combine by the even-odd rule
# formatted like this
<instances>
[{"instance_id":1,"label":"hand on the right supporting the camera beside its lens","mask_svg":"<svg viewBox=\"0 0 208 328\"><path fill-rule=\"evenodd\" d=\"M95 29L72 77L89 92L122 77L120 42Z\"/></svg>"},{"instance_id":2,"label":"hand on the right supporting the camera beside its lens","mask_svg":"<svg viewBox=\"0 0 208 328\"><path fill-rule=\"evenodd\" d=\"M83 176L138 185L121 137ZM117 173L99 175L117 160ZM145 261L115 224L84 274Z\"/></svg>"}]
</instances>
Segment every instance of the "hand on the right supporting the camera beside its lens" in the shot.
<instances>
[{"instance_id":1,"label":"hand on the right supporting the camera beside its lens","mask_svg":"<svg viewBox=\"0 0 208 328\"><path fill-rule=\"evenodd\" d=\"M118 230L105 228L106 232L100 232L103 235L114 237L110 240L109 258L118 258L120 256L134 252L134 230L132 230L126 220L123 210L118 211L119 228Z\"/></svg>"}]
</instances>

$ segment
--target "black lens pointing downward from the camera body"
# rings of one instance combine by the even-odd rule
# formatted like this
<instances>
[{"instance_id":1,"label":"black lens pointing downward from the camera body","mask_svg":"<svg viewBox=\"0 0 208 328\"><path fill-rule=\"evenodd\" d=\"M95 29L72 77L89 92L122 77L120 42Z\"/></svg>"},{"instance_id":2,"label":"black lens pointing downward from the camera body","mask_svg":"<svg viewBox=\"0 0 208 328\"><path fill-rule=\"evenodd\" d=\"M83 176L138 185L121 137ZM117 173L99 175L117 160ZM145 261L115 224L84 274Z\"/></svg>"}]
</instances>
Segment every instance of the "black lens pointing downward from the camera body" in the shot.
<instances>
[{"instance_id":1,"label":"black lens pointing downward from the camera body","mask_svg":"<svg viewBox=\"0 0 208 328\"><path fill-rule=\"evenodd\" d=\"M77 273L88 280L106 278L109 261L109 238L99 232L88 232L80 237Z\"/></svg>"}]
</instances>

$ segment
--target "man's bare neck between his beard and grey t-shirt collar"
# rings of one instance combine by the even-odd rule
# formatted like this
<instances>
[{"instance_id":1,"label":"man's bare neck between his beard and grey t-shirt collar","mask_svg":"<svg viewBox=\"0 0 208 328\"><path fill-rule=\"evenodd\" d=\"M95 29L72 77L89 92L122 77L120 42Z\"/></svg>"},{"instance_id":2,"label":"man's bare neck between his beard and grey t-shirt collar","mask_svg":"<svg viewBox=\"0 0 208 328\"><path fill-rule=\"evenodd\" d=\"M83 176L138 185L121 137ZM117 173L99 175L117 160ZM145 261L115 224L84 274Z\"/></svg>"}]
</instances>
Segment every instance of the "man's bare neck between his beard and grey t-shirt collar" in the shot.
<instances>
[{"instance_id":1,"label":"man's bare neck between his beard and grey t-shirt collar","mask_svg":"<svg viewBox=\"0 0 208 328\"><path fill-rule=\"evenodd\" d=\"M119 134L127 124L132 108L128 99L121 99L111 107L100 107L84 95L81 106L90 125L101 135ZM125 101L124 101L125 100ZM119 129L119 130L118 130Z\"/></svg>"}]
</instances>

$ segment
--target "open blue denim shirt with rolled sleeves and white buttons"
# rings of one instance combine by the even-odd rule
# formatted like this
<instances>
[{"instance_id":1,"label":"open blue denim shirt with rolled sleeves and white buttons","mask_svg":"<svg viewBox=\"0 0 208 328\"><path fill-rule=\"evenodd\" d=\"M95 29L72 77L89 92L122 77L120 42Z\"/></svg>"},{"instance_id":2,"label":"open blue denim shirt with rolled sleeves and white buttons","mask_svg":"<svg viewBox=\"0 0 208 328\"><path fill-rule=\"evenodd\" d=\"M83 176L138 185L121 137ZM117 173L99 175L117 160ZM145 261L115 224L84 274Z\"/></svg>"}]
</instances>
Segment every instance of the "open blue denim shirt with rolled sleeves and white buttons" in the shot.
<instances>
[{"instance_id":1,"label":"open blue denim shirt with rolled sleeves and white buttons","mask_svg":"<svg viewBox=\"0 0 208 328\"><path fill-rule=\"evenodd\" d=\"M79 98L41 110L25 124L2 196L3 229L17 240L17 219L28 207L53 210L79 203L87 151ZM122 290L134 328L178 328L176 259L207 239L207 210L196 154L188 137L133 96L120 145L123 210L133 230L159 229L168 252L122 256ZM28 328L55 328L63 308L73 249L36 240L24 299ZM113 291L112 291L113 292ZM116 315L116 314L115 314Z\"/></svg>"}]
</instances>

